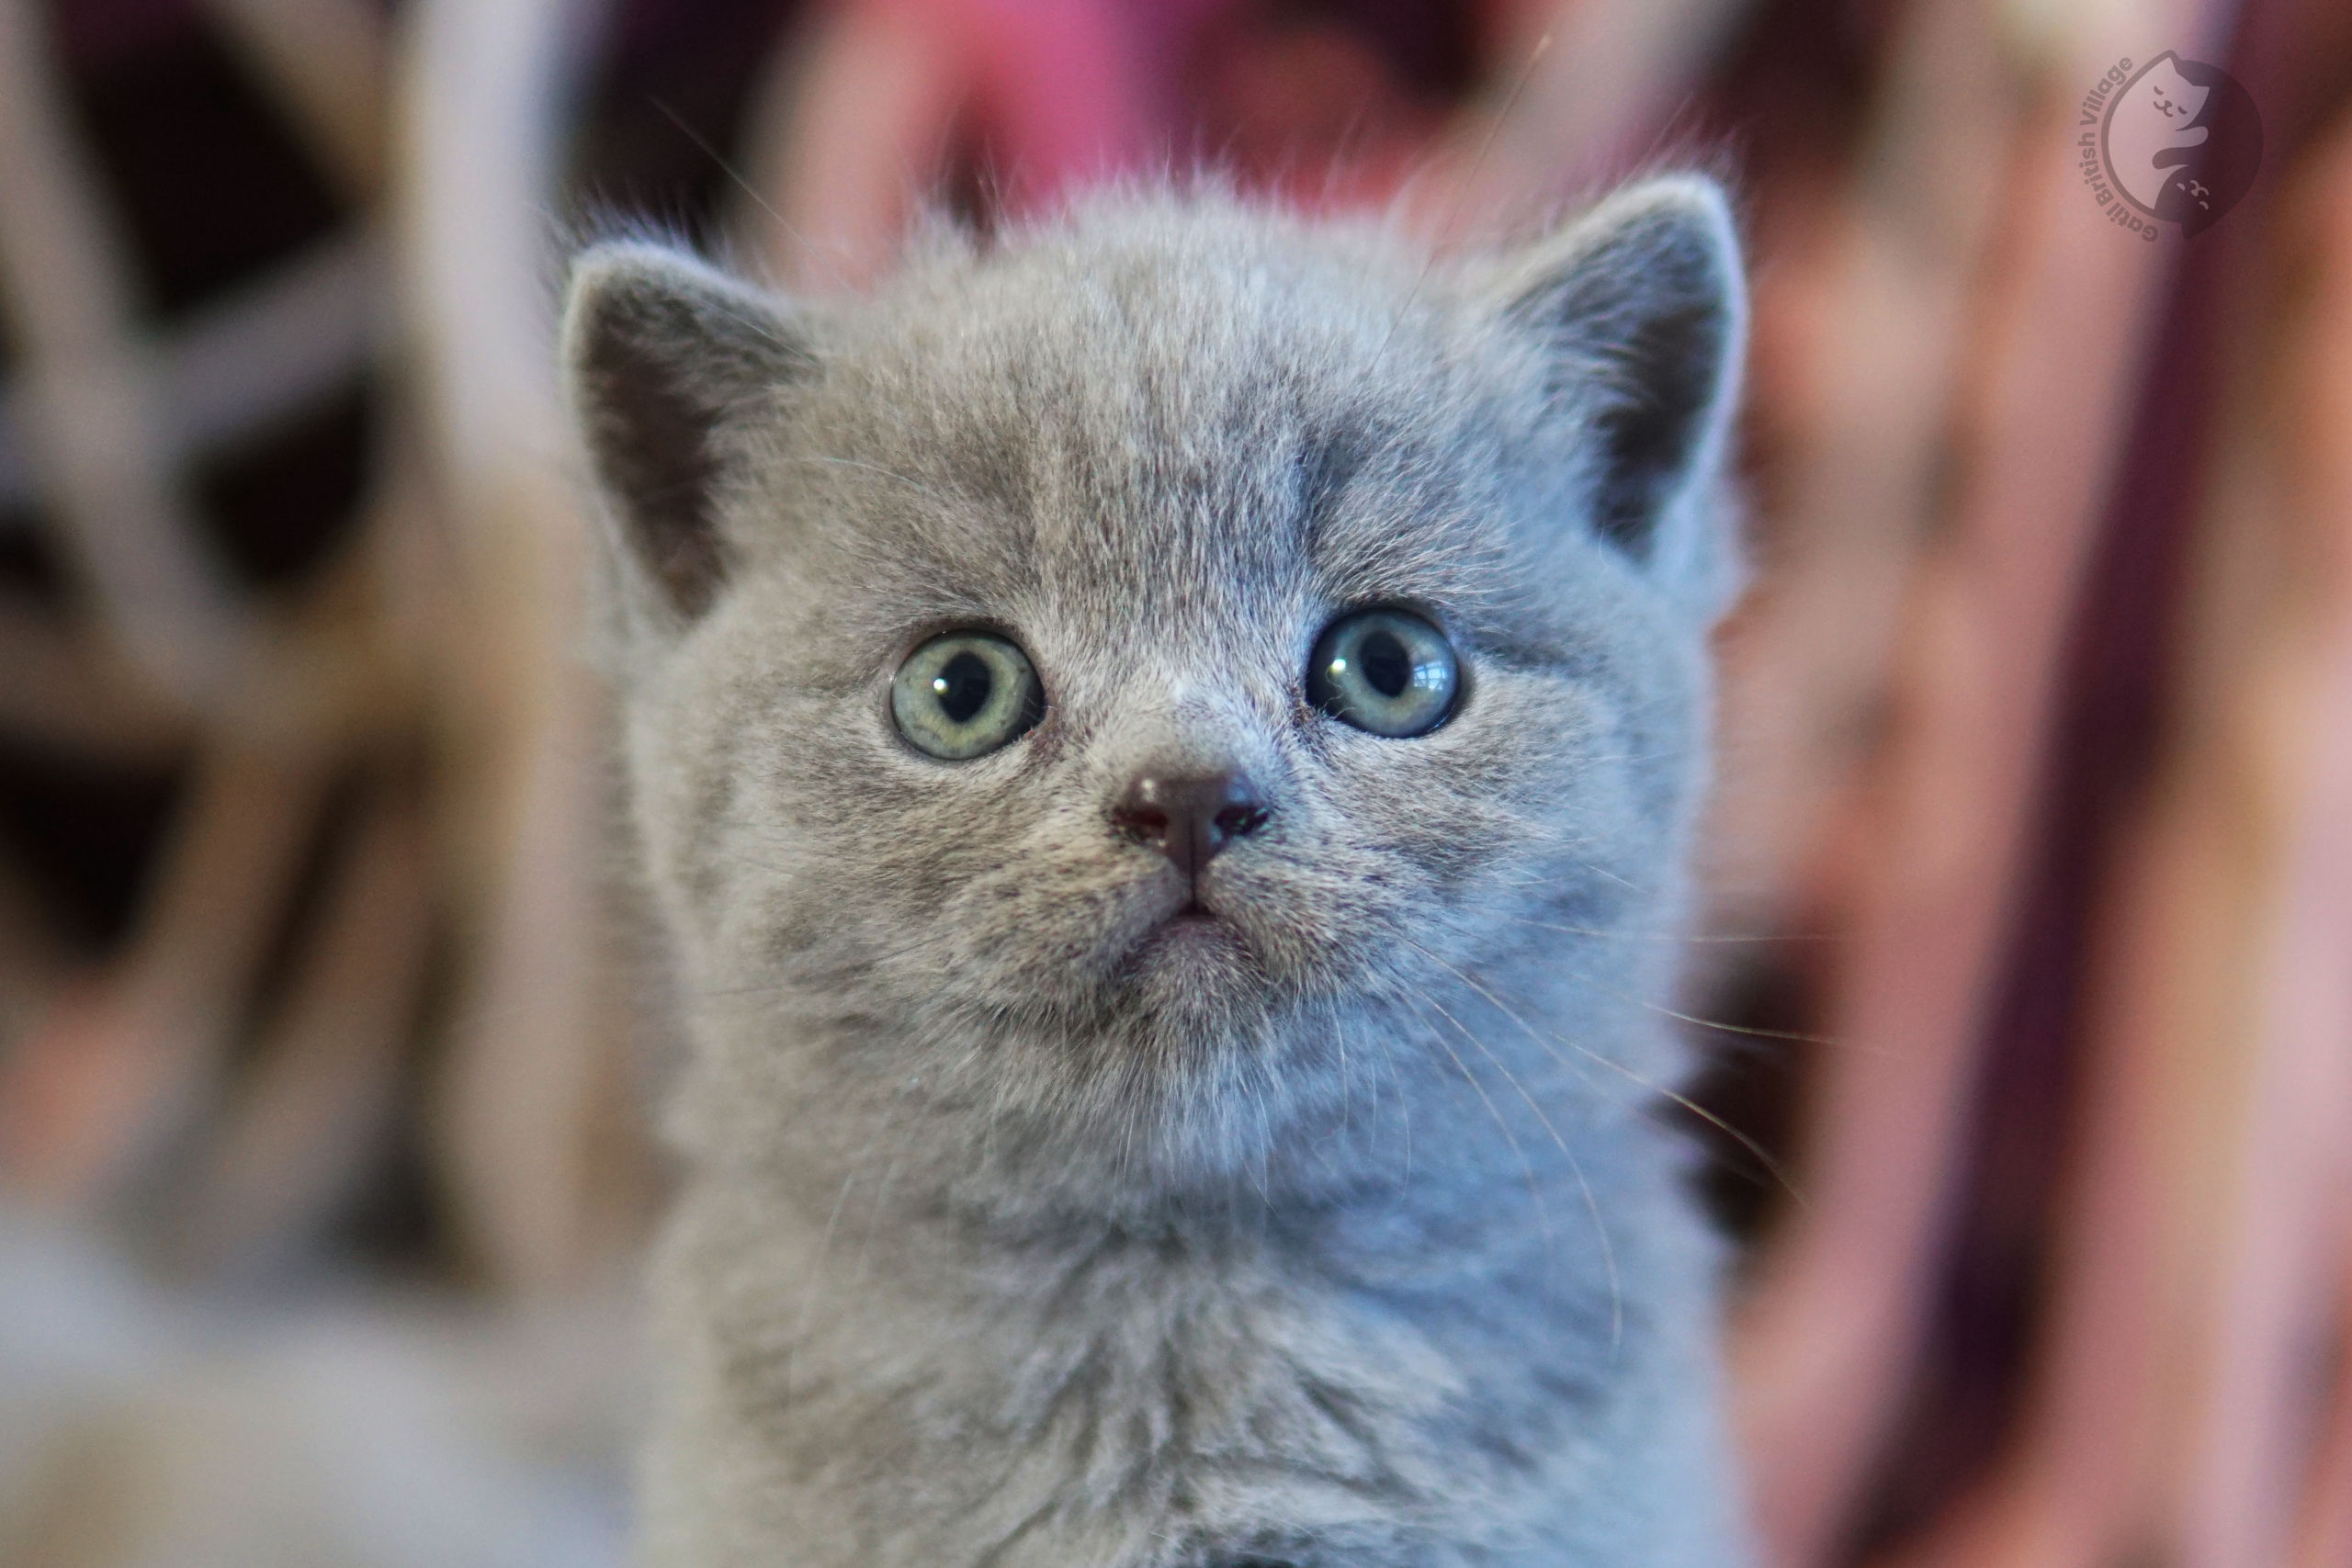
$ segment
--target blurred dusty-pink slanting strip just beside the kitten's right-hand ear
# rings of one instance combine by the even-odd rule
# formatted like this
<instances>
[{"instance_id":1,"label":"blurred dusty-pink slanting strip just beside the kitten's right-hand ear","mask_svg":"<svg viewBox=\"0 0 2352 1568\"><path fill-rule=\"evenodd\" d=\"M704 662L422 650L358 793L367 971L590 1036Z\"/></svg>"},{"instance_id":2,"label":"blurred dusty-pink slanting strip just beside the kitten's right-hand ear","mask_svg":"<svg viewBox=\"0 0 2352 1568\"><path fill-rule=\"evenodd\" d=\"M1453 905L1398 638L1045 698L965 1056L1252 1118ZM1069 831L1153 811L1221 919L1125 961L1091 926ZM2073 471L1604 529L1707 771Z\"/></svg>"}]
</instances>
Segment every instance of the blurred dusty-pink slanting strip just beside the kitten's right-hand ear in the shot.
<instances>
[{"instance_id":1,"label":"blurred dusty-pink slanting strip just beside the kitten's right-hand ear","mask_svg":"<svg viewBox=\"0 0 2352 1568\"><path fill-rule=\"evenodd\" d=\"M2016 120L2025 89L1978 0L1907 7L1851 190L1813 235L1823 254L1764 259L1759 331L1769 310L1790 310L1802 362L1755 395L1797 449L1755 590L1724 637L1705 867L1717 929L1811 929L1839 905L1835 882L1851 867L1835 832L1889 703L1889 649L1936 524L2006 193L1987 129Z\"/></svg>"}]
</instances>

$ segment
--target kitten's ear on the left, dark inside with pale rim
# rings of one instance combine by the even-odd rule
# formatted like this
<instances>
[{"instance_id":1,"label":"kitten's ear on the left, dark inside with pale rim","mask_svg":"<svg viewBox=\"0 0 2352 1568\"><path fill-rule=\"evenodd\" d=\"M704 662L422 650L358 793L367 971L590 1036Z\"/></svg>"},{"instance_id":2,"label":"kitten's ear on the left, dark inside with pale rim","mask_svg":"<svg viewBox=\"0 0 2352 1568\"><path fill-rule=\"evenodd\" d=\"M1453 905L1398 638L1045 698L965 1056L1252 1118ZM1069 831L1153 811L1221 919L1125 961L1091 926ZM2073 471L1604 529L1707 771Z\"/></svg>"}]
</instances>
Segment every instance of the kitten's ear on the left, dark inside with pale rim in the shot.
<instances>
[{"instance_id":1,"label":"kitten's ear on the left, dark inside with pale rim","mask_svg":"<svg viewBox=\"0 0 2352 1568\"><path fill-rule=\"evenodd\" d=\"M814 357L779 303L659 244L600 244L572 263L562 378L630 609L682 625L731 562L717 484L731 425Z\"/></svg>"}]
</instances>

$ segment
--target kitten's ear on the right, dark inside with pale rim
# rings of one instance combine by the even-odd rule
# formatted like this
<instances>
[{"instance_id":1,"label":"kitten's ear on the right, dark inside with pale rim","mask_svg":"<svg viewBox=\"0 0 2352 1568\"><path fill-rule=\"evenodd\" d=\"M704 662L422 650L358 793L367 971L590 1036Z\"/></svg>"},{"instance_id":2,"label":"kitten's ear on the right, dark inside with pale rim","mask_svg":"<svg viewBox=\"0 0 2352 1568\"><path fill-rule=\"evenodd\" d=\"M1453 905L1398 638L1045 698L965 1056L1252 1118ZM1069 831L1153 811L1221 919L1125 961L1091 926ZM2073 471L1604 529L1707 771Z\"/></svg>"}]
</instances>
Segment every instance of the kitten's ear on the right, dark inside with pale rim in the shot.
<instances>
[{"instance_id":1,"label":"kitten's ear on the right, dark inside with pale rim","mask_svg":"<svg viewBox=\"0 0 2352 1568\"><path fill-rule=\"evenodd\" d=\"M1630 186L1519 256L1515 327L1543 336L1548 393L1585 421L1592 527L1635 559L1724 576L1717 487L1748 348L1748 289L1715 181Z\"/></svg>"}]
</instances>

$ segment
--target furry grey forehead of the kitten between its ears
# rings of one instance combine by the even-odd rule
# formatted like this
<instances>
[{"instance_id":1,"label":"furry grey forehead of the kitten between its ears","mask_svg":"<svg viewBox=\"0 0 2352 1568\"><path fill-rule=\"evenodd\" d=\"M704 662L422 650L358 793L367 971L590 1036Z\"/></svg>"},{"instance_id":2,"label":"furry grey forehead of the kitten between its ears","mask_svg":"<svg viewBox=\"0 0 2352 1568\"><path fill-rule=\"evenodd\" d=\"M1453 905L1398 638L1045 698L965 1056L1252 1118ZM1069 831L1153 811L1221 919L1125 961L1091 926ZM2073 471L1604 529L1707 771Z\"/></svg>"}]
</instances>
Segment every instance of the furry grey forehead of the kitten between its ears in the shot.
<instances>
[{"instance_id":1,"label":"furry grey forehead of the kitten between its ears","mask_svg":"<svg viewBox=\"0 0 2352 1568\"><path fill-rule=\"evenodd\" d=\"M1432 461L1475 402L1442 306L1369 235L1155 219L915 270L844 331L802 428L917 480L910 576L1178 644L1444 592L1479 468Z\"/></svg>"}]
</instances>

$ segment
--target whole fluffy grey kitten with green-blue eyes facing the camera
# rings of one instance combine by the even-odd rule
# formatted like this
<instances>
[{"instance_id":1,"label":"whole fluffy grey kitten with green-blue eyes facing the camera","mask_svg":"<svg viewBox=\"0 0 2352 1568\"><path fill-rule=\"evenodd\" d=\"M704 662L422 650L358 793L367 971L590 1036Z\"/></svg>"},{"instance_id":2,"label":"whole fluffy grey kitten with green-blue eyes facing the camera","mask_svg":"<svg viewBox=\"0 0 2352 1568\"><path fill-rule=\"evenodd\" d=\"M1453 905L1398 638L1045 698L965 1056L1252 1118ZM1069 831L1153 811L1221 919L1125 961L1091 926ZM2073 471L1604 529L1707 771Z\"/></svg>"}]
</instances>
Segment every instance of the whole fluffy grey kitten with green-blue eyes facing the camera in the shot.
<instances>
[{"instance_id":1,"label":"whole fluffy grey kitten with green-blue eyes facing the camera","mask_svg":"<svg viewBox=\"0 0 2352 1568\"><path fill-rule=\"evenodd\" d=\"M647 1563L1745 1561L1649 1114L1743 331L1700 179L579 259L694 1039Z\"/></svg>"}]
</instances>

